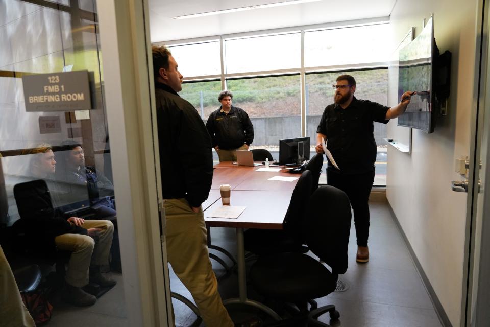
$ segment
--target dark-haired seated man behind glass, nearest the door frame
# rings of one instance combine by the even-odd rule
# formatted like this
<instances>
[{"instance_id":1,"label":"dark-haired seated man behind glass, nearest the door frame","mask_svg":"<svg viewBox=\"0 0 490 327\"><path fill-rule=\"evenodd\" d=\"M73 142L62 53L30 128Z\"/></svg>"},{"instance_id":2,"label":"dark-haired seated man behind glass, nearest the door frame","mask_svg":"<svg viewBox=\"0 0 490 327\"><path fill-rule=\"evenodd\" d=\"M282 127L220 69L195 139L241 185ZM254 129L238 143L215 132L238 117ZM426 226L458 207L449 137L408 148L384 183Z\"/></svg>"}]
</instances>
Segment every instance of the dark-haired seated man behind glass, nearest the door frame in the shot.
<instances>
[{"instance_id":1,"label":"dark-haired seated man behind glass, nearest the door frame","mask_svg":"<svg viewBox=\"0 0 490 327\"><path fill-rule=\"evenodd\" d=\"M91 212L97 219L114 220L116 218L112 182L94 167L85 166L85 155L79 143L68 140L62 143L65 151L60 153L61 164L57 175L60 180L67 182L70 187L69 199L72 209L90 206Z\"/></svg>"}]
</instances>

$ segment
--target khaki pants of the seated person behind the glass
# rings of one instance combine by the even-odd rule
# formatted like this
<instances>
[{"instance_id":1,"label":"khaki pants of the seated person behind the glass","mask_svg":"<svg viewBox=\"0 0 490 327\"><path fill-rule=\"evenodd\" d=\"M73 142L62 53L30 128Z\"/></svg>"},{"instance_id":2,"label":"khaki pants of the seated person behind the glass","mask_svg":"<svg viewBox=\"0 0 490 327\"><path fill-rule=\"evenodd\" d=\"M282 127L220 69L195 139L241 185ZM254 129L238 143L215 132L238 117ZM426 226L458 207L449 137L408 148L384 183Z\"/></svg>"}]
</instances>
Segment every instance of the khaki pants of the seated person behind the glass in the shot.
<instances>
[{"instance_id":1,"label":"khaki pants of the seated person behind the glass","mask_svg":"<svg viewBox=\"0 0 490 327\"><path fill-rule=\"evenodd\" d=\"M71 251L66 283L75 287L88 284L88 269L90 264L102 266L109 264L114 225L109 220L85 220L83 228L101 228L97 233L97 241L88 235L63 234L55 238L60 250Z\"/></svg>"}]
</instances>

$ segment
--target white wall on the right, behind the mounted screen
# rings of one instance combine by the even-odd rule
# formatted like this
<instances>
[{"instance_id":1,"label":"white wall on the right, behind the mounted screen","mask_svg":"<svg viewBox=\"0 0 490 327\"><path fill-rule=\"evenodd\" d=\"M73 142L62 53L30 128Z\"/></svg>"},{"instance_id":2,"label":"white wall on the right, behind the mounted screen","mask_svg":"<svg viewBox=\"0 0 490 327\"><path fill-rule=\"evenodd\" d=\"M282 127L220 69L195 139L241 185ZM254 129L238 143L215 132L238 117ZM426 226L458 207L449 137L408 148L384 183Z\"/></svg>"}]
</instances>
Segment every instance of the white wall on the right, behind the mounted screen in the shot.
<instances>
[{"instance_id":1,"label":"white wall on the right, behind the mounted screen","mask_svg":"<svg viewBox=\"0 0 490 327\"><path fill-rule=\"evenodd\" d=\"M387 198L451 324L460 325L467 194L451 191L460 180L454 159L470 154L470 116L475 67L477 0L402 0L390 15L394 41L409 27L415 36L434 13L440 52L452 52L447 116L435 132L413 130L412 153L388 148ZM398 99L390 97L390 104ZM390 123L390 129L396 124Z\"/></svg>"}]
</instances>

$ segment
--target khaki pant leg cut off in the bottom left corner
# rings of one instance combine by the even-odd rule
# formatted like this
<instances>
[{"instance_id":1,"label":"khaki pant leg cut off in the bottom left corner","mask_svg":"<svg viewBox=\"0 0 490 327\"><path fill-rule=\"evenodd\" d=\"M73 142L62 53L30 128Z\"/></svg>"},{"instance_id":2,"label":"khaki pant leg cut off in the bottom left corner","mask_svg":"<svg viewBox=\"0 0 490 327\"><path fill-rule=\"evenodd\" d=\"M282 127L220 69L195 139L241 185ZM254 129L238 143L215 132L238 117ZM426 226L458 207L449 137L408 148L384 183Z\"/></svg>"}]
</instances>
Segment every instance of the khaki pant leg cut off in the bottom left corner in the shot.
<instances>
[{"instance_id":1,"label":"khaki pant leg cut off in the bottom left corner","mask_svg":"<svg viewBox=\"0 0 490 327\"><path fill-rule=\"evenodd\" d=\"M0 247L0 324L4 327L35 327L29 311L20 298L10 265Z\"/></svg>"}]
</instances>

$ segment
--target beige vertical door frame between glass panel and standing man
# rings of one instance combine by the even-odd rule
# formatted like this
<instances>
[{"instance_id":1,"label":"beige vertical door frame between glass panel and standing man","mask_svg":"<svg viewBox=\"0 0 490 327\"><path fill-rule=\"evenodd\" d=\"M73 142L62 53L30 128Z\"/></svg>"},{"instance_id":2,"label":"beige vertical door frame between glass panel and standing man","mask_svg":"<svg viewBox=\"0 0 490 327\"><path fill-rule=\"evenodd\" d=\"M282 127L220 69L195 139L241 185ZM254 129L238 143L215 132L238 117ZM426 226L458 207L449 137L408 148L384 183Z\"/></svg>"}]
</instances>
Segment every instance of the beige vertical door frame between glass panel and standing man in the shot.
<instances>
[{"instance_id":1,"label":"beige vertical door frame between glass panel and standing man","mask_svg":"<svg viewBox=\"0 0 490 327\"><path fill-rule=\"evenodd\" d=\"M97 14L128 325L171 326L148 2L99 0Z\"/></svg>"}]
</instances>

